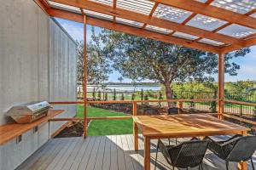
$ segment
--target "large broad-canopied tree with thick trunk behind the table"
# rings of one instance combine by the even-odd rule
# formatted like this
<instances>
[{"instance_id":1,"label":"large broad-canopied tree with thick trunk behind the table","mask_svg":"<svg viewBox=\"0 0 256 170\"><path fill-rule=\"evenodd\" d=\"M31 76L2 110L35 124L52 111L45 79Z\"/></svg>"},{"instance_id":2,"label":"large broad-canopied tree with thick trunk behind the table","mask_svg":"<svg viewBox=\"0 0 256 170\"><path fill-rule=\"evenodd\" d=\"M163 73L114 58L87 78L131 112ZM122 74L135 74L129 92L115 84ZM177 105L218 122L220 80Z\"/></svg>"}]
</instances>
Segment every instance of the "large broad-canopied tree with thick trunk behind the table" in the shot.
<instances>
[{"instance_id":1,"label":"large broad-canopied tree with thick trunk behind the table","mask_svg":"<svg viewBox=\"0 0 256 170\"><path fill-rule=\"evenodd\" d=\"M192 48L135 37L117 31L100 34L104 53L123 77L134 81L153 80L166 89L166 99L172 99L172 82L209 81L218 72L218 56ZM225 72L236 75L240 68L231 59L244 56L243 48L225 56ZM169 106L171 104L168 104Z\"/></svg>"}]
</instances>

